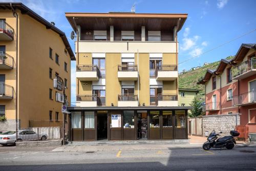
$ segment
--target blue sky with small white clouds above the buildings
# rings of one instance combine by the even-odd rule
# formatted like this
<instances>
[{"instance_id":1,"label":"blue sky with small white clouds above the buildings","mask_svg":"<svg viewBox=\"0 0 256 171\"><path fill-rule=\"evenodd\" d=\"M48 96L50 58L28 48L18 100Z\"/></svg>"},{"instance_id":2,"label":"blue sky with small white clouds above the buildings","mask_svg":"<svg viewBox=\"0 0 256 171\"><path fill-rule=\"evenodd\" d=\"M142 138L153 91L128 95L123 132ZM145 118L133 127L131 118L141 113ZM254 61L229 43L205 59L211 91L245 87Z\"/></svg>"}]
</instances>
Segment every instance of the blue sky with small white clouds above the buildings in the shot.
<instances>
[{"instance_id":1,"label":"blue sky with small white clouds above the buildings","mask_svg":"<svg viewBox=\"0 0 256 171\"><path fill-rule=\"evenodd\" d=\"M7 0L0 0L7 2ZM236 55L243 43L256 42L255 0L35 0L22 2L66 33L71 40L72 28L65 12L130 12L135 4L136 13L187 13L183 28L178 33L179 72L203 66ZM71 66L71 102L76 96L75 61Z\"/></svg>"}]
</instances>

